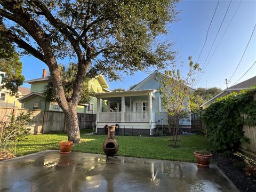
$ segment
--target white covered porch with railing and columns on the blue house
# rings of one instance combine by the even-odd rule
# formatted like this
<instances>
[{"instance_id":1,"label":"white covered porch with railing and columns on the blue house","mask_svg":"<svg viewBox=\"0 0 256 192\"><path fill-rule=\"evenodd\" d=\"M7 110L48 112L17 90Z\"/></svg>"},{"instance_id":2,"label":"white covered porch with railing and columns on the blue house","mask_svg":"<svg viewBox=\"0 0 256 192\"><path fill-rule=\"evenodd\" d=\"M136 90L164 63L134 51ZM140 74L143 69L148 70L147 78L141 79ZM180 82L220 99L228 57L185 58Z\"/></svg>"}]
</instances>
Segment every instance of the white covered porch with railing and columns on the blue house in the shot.
<instances>
[{"instance_id":1,"label":"white covered porch with railing and columns on the blue house","mask_svg":"<svg viewBox=\"0 0 256 192\"><path fill-rule=\"evenodd\" d=\"M94 93L97 98L96 132L101 134L106 124L118 124L122 132L151 135L156 127L156 112L152 105L156 91ZM107 109L100 108L101 99L107 101Z\"/></svg>"}]
</instances>

